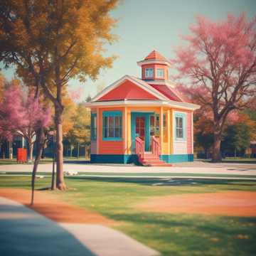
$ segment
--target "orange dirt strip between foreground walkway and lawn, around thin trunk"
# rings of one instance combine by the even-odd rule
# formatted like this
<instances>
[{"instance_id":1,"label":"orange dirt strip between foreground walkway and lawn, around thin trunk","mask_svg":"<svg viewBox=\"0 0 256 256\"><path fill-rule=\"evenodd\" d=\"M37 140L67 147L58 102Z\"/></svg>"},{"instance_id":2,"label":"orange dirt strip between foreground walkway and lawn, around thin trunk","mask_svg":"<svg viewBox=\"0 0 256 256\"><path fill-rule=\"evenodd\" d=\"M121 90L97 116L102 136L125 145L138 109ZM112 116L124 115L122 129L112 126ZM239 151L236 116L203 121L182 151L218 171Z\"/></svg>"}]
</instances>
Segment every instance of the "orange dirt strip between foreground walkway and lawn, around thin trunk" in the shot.
<instances>
[{"instance_id":1,"label":"orange dirt strip between foreground walkway and lawn, around thin trunk","mask_svg":"<svg viewBox=\"0 0 256 256\"><path fill-rule=\"evenodd\" d=\"M46 191L35 192L35 205L30 206L31 191L21 188L1 188L0 196L22 203L59 223L97 223L114 225L114 221L90 210L60 201Z\"/></svg>"}]
</instances>

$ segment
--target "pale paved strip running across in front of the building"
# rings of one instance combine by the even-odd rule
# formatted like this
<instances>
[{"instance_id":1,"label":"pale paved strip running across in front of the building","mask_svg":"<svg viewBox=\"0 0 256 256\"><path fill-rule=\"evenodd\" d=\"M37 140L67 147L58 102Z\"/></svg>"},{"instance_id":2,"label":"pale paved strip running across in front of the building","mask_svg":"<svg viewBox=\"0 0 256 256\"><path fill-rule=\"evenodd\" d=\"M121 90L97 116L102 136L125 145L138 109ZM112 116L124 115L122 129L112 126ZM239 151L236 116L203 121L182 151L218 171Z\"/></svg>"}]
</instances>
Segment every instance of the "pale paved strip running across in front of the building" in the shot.
<instances>
[{"instance_id":1,"label":"pale paved strip running across in front of the building","mask_svg":"<svg viewBox=\"0 0 256 256\"><path fill-rule=\"evenodd\" d=\"M32 165L1 165L0 171L32 171ZM52 164L40 164L38 172L51 172ZM235 174L256 175L256 164L210 164L201 161L175 164L169 167L145 167L124 164L64 164L64 171L95 173L173 173L173 174Z\"/></svg>"}]
</instances>

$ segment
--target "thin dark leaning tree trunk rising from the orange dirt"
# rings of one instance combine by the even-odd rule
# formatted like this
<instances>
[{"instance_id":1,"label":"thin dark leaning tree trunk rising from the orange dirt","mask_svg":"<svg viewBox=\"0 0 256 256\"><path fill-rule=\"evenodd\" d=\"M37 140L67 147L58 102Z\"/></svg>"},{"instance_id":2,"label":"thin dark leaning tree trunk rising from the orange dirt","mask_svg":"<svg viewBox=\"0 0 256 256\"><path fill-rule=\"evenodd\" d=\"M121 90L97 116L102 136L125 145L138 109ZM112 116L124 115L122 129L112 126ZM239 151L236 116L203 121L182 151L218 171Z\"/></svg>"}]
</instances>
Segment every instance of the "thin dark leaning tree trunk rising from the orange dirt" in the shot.
<instances>
[{"instance_id":1,"label":"thin dark leaning tree trunk rising from the orange dirt","mask_svg":"<svg viewBox=\"0 0 256 256\"><path fill-rule=\"evenodd\" d=\"M33 172L32 172L32 180L31 180L31 206L34 203L34 191L35 191L35 180L36 180L36 171L38 169L38 164L41 159L42 149L43 149L43 142L44 142L44 132L43 127L36 131L36 159L33 164Z\"/></svg>"}]
</instances>

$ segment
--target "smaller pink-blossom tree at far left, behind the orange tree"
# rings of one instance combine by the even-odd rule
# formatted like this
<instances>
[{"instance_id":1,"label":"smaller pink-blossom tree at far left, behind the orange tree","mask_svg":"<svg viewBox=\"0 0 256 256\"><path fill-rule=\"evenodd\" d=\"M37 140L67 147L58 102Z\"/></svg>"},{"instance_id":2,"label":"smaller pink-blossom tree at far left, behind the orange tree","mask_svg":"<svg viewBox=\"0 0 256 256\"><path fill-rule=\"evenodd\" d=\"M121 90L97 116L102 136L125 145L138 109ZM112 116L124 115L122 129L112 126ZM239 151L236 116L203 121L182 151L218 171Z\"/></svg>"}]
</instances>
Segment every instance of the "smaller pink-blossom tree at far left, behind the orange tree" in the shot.
<instances>
[{"instance_id":1,"label":"smaller pink-blossom tree at far left, behind the orange tree","mask_svg":"<svg viewBox=\"0 0 256 256\"><path fill-rule=\"evenodd\" d=\"M21 134L28 143L29 159L32 160L36 130L39 126L48 127L51 118L50 109L44 107L32 92L24 97L21 86L12 80L4 92L0 113L1 136L11 140L14 133Z\"/></svg>"}]
</instances>

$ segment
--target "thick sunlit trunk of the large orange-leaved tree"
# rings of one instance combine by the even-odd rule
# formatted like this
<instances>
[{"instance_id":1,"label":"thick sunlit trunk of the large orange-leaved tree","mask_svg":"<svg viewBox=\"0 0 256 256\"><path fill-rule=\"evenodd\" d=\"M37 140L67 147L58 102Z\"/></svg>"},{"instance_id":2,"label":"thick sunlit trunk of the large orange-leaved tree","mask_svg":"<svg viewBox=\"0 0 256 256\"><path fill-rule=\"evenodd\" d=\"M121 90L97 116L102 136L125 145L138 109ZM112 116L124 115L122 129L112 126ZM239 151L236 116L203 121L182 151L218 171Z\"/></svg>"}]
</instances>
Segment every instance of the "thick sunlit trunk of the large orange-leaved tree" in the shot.
<instances>
[{"instance_id":1,"label":"thick sunlit trunk of the large orange-leaved tree","mask_svg":"<svg viewBox=\"0 0 256 256\"><path fill-rule=\"evenodd\" d=\"M63 110L55 107L55 127L56 127L56 188L65 190L63 175Z\"/></svg>"}]
</instances>

